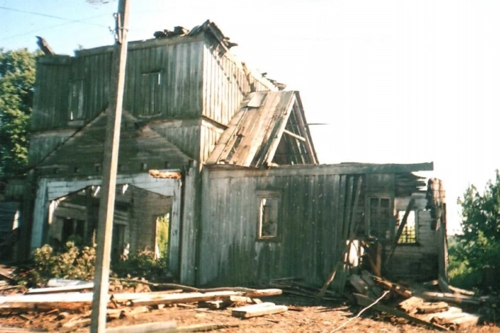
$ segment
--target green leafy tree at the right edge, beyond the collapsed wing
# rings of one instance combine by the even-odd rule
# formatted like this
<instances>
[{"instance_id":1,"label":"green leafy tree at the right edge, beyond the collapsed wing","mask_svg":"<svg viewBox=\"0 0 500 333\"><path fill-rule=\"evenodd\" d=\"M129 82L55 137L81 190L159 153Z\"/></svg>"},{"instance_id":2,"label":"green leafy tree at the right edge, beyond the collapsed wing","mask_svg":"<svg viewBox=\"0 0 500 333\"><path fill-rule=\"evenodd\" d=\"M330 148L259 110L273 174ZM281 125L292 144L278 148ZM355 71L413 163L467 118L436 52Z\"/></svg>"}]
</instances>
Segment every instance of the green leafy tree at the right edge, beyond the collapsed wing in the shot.
<instances>
[{"instance_id":1,"label":"green leafy tree at the right edge, beyond the collapsed wing","mask_svg":"<svg viewBox=\"0 0 500 333\"><path fill-rule=\"evenodd\" d=\"M463 230L458 237L458 259L467 260L472 268L500 268L499 171L482 194L474 185L469 186L458 204L462 207Z\"/></svg>"}]
</instances>

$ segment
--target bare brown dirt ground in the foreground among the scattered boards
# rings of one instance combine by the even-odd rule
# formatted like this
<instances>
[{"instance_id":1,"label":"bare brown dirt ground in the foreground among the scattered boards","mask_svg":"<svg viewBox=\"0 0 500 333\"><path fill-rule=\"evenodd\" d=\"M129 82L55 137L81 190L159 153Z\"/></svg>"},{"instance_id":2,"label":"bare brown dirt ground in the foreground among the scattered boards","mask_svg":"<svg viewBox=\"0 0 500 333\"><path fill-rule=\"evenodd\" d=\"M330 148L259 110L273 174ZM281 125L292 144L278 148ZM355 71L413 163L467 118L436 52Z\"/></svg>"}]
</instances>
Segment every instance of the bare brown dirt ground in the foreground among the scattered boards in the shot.
<instances>
[{"instance_id":1,"label":"bare brown dirt ground in the foreground among the scattered boards","mask_svg":"<svg viewBox=\"0 0 500 333\"><path fill-rule=\"evenodd\" d=\"M265 301L274 302L276 305L299 307L303 311L289 310L282 314L242 320L231 316L231 308L208 310L178 305L165 307L164 309L153 309L149 313L138 314L133 318L115 319L108 322L108 327L176 321L178 326L201 323L238 325L238 327L228 327L216 331L231 333L433 332L425 327L412 325L403 319L385 316L370 310L366 311L360 318L353 319L340 330L335 330L349 321L349 318L356 316L361 307L349 305L347 301L317 302L314 299L300 296L276 296L265 298ZM63 329L60 325L63 322L58 321L57 316L56 312L40 316L35 316L35 314L0 316L0 326L23 327L31 332L36 329L42 329L45 332L62 332ZM0 327L0 332L6 332L6 330L2 330ZM88 332L88 327L73 332ZM483 325L469 330L462 330L462 332L500 332L500 327Z\"/></svg>"}]
</instances>

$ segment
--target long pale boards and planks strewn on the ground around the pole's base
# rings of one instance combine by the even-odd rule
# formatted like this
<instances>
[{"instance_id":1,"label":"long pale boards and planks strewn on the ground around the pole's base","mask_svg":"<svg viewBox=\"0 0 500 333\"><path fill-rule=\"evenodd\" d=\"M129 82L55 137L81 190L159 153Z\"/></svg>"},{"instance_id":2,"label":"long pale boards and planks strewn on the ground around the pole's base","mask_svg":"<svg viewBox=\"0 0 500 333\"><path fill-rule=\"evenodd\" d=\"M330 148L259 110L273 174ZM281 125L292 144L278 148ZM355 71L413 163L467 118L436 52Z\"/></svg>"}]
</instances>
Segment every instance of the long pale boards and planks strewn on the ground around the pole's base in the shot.
<instances>
[{"instance_id":1,"label":"long pale boards and planks strewn on the ground around the pole's base","mask_svg":"<svg viewBox=\"0 0 500 333\"><path fill-rule=\"evenodd\" d=\"M59 332L70 332L90 325L92 314L92 282L52 279L45 288L29 289L25 293L0 296L0 318L8 322L9 317L32 321L57 322ZM151 285L166 290L151 291ZM252 318L288 311L288 307L263 302L260 298L277 296L281 289L249 289L228 287L196 289L181 284L152 284L135 280L130 283L112 281L108 300L108 321L119 318L138 318L152 310L167 307L188 307L196 311L231 308L235 318ZM172 332L194 332L190 327L167 327ZM207 324L208 325L208 324ZM210 324L212 325L212 324ZM192 330L206 330L206 326L194 325ZM213 325L210 330L227 325ZM171 332L161 328L162 332ZM121 332L121 331L120 331ZM148 331L149 332L149 331Z\"/></svg>"}]
</instances>

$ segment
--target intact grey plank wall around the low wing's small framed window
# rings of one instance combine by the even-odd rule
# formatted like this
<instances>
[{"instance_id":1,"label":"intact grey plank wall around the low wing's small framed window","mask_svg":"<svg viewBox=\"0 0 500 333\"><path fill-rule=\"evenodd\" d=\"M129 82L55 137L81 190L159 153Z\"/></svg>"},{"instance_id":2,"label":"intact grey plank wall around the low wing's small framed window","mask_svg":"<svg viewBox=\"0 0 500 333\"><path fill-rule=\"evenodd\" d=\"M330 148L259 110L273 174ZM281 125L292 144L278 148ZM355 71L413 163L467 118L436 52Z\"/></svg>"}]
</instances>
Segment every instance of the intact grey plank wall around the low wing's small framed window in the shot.
<instances>
[{"instance_id":1,"label":"intact grey plank wall around the low wing's small framed window","mask_svg":"<svg viewBox=\"0 0 500 333\"><path fill-rule=\"evenodd\" d=\"M288 276L322 284L344 247L346 232L339 221L349 214L344 206L353 177L205 173L197 284L252 284ZM281 193L274 241L257 239L260 189Z\"/></svg>"}]
</instances>

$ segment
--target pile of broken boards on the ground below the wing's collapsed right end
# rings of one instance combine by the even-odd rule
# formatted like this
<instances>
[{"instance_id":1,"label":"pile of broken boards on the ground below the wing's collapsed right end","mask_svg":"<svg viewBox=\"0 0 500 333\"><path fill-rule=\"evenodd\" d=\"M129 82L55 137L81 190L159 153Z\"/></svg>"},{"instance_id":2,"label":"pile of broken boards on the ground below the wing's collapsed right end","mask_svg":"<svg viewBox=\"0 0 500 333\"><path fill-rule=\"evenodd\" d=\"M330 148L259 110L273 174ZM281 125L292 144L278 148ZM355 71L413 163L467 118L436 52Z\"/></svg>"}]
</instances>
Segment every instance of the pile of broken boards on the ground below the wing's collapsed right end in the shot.
<instances>
[{"instance_id":1,"label":"pile of broken boards on the ground below the wing's collapsed right end","mask_svg":"<svg viewBox=\"0 0 500 333\"><path fill-rule=\"evenodd\" d=\"M361 275L351 275L349 282L356 289L353 295L360 306L367 307L375 303L372 309L376 311L441 331L462 330L481 321L481 316L467 313L458 305L478 306L485 302L498 301L498 299L474 296L472 291L453 288L442 279L435 284L446 292L413 291L401 284L371 275L367 271L363 271ZM387 293L380 302L376 302L384 291L390 293Z\"/></svg>"}]
</instances>

